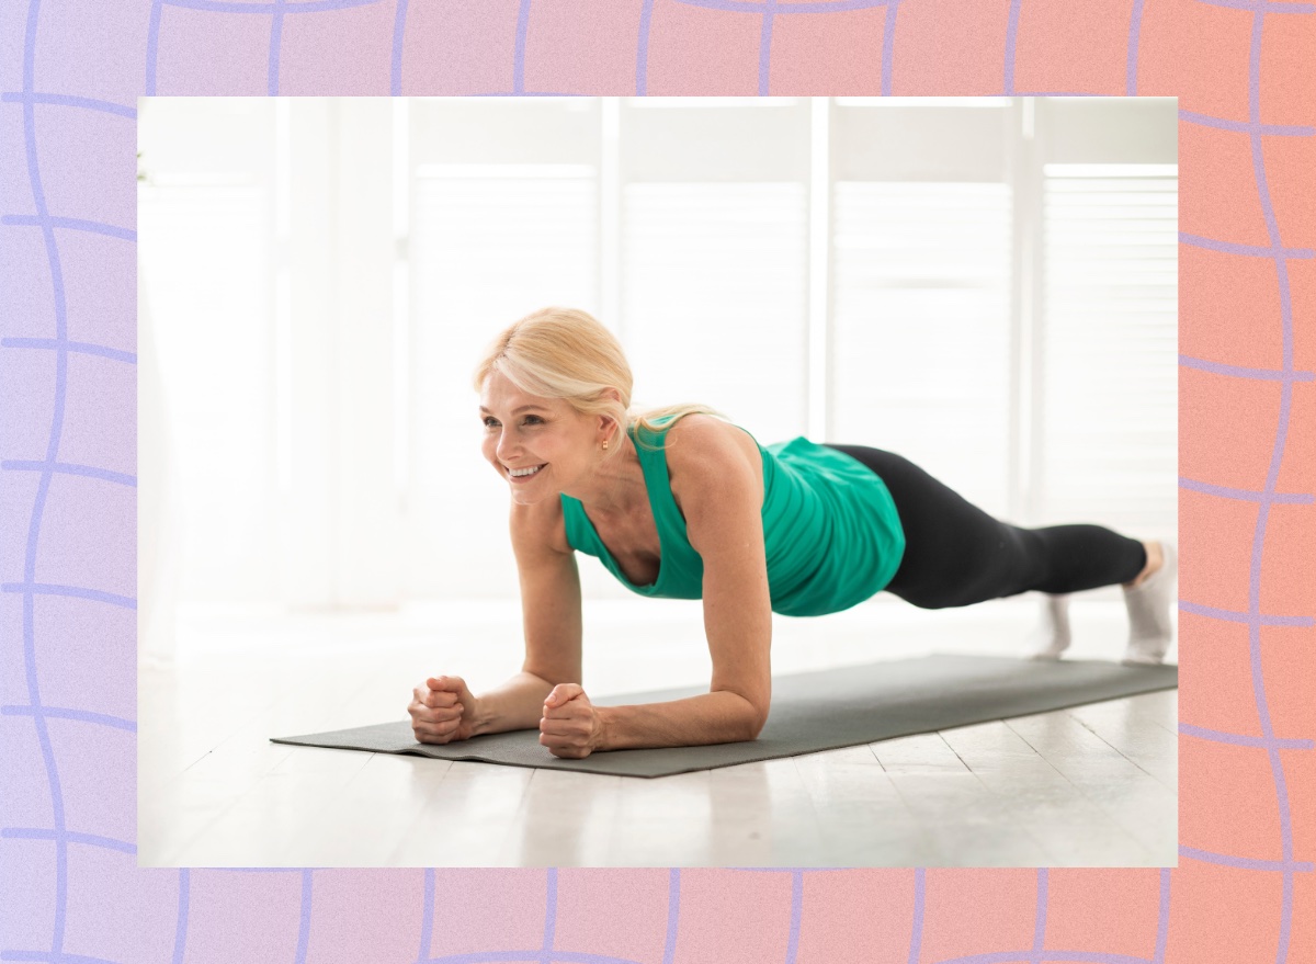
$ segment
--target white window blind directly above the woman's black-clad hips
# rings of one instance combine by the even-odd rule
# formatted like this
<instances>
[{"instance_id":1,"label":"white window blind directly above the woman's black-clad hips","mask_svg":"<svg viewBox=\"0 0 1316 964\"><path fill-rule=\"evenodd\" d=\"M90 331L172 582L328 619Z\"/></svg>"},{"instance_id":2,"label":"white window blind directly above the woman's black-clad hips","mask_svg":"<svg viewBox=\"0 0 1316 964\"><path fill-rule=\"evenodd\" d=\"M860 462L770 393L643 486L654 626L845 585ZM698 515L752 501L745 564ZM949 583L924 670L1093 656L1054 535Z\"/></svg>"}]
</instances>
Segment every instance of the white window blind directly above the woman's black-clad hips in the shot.
<instances>
[{"instance_id":1,"label":"white window blind directly above the woman's black-clad hips","mask_svg":"<svg viewBox=\"0 0 1316 964\"><path fill-rule=\"evenodd\" d=\"M826 441L915 461L1004 514L1011 195L1001 183L838 182Z\"/></svg>"}]
</instances>

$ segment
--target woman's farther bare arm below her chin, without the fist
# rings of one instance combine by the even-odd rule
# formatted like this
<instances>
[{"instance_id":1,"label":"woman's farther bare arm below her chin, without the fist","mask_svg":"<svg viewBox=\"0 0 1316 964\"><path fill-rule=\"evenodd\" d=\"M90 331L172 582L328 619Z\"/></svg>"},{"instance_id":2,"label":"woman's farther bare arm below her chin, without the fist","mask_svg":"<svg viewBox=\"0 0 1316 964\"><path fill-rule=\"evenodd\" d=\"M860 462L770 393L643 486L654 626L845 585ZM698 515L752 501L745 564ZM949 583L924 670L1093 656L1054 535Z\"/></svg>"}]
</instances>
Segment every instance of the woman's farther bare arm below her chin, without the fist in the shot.
<instances>
[{"instance_id":1,"label":"woman's farther bare arm below her chin, without the fist","mask_svg":"<svg viewBox=\"0 0 1316 964\"><path fill-rule=\"evenodd\" d=\"M580 577L562 531L562 503L512 506L512 549L521 581L525 662L476 697L474 734L533 730L553 687L580 682Z\"/></svg>"}]
</instances>

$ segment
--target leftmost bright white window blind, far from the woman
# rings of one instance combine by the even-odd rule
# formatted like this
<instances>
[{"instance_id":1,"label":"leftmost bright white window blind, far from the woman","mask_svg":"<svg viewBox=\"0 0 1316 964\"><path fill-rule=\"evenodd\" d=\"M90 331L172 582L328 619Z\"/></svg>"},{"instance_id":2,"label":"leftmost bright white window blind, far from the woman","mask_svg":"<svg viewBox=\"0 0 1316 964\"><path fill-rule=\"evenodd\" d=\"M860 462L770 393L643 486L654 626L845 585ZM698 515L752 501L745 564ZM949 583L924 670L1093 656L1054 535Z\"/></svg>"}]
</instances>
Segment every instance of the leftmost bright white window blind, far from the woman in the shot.
<instances>
[{"instance_id":1,"label":"leftmost bright white window blind, far from the woman","mask_svg":"<svg viewBox=\"0 0 1316 964\"><path fill-rule=\"evenodd\" d=\"M187 533L179 593L275 601L271 195L254 175L161 176L139 192L138 250Z\"/></svg>"}]
</instances>

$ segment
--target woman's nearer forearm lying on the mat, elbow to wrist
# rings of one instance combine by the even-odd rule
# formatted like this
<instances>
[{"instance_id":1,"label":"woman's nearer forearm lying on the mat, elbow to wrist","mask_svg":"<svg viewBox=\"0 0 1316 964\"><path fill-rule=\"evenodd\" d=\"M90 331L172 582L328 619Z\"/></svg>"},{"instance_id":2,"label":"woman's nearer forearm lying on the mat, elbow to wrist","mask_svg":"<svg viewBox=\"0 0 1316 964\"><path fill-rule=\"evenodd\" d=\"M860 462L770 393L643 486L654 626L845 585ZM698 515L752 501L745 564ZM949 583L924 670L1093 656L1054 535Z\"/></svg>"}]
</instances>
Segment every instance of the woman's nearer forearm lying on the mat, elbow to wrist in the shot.
<instances>
[{"instance_id":1,"label":"woman's nearer forearm lying on the mat, elbow to wrist","mask_svg":"<svg viewBox=\"0 0 1316 964\"><path fill-rule=\"evenodd\" d=\"M597 749L697 747L758 736L759 715L744 697L720 690L667 703L595 707L603 723Z\"/></svg>"}]
</instances>

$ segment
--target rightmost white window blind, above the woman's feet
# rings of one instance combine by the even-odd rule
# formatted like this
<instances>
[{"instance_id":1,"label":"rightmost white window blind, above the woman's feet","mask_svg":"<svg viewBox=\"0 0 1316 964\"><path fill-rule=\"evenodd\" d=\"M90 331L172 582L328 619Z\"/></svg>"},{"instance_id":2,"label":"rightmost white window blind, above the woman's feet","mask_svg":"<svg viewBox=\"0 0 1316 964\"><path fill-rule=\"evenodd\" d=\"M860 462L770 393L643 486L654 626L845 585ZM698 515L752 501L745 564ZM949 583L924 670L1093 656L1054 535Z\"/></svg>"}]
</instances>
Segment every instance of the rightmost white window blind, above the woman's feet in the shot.
<instances>
[{"instance_id":1,"label":"rightmost white window blind, above the woman's feet","mask_svg":"<svg viewBox=\"0 0 1316 964\"><path fill-rule=\"evenodd\" d=\"M1178 179L1048 165L1037 511L1173 535Z\"/></svg>"}]
</instances>

